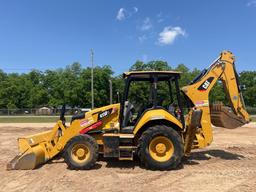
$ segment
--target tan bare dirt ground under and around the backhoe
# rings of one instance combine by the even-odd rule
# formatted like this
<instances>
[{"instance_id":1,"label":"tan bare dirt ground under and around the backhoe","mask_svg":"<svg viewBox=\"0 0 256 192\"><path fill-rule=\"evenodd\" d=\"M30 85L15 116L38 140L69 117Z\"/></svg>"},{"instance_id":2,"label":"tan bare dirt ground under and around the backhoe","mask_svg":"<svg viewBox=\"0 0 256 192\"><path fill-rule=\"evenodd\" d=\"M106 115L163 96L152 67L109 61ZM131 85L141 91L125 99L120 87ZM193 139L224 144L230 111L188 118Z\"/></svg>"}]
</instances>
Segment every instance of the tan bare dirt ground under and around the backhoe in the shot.
<instances>
[{"instance_id":1,"label":"tan bare dirt ground under and around the backhoe","mask_svg":"<svg viewBox=\"0 0 256 192\"><path fill-rule=\"evenodd\" d=\"M0 124L0 191L256 191L256 124L214 128L214 142L172 171L149 171L138 161L100 160L90 171L67 169L62 159L36 170L6 171L17 137L53 124Z\"/></svg>"}]
</instances>

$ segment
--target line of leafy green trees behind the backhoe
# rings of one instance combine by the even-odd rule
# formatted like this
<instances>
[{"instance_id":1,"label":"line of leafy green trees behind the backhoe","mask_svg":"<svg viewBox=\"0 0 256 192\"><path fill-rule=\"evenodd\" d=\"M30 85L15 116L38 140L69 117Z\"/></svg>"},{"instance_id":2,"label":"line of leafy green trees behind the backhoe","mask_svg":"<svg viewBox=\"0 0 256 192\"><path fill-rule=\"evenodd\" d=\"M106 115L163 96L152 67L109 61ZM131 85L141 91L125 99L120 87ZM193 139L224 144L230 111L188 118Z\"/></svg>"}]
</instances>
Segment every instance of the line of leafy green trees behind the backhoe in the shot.
<instances>
[{"instance_id":1,"label":"line of leafy green trees behind the backhoe","mask_svg":"<svg viewBox=\"0 0 256 192\"><path fill-rule=\"evenodd\" d=\"M178 70L182 72L180 86L188 84L200 73L200 70L191 70L184 64L173 68L165 61L137 61L130 70ZM94 68L95 107L109 104L109 80L113 84L114 100L117 101L118 95L122 95L122 75L113 74L109 65ZM256 107L256 71L243 71L239 77L245 103ZM210 101L227 103L221 83L217 83L211 91ZM0 70L1 109L58 107L64 103L72 108L91 107L91 68L82 68L76 62L61 69L32 70L22 74Z\"/></svg>"}]
</instances>

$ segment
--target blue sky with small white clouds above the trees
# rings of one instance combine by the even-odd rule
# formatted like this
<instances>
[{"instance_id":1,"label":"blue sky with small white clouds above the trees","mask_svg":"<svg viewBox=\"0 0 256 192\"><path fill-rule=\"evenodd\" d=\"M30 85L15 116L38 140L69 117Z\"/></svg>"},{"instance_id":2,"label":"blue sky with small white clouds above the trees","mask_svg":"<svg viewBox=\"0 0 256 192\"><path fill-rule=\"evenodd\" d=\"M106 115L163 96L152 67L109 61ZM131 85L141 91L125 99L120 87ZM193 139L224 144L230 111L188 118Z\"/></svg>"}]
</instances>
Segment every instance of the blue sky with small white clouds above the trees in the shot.
<instances>
[{"instance_id":1,"label":"blue sky with small white clouds above the trees","mask_svg":"<svg viewBox=\"0 0 256 192\"><path fill-rule=\"evenodd\" d=\"M222 50L256 70L256 0L0 0L0 69L28 72L137 60L208 67Z\"/></svg>"}]
</instances>

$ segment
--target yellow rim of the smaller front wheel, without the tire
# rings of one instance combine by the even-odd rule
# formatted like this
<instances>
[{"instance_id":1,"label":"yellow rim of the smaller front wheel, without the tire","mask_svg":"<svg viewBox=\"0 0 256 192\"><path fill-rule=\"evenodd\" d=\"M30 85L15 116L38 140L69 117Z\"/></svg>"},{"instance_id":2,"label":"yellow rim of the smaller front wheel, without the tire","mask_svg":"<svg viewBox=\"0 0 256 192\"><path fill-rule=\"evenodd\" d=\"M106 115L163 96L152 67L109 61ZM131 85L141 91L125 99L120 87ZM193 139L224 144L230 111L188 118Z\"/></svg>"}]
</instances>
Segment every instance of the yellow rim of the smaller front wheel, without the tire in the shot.
<instances>
[{"instance_id":1,"label":"yellow rim of the smaller front wheel, without the tire","mask_svg":"<svg viewBox=\"0 0 256 192\"><path fill-rule=\"evenodd\" d=\"M85 163L90 155L90 150L85 144L75 144L71 151L71 158L79 164Z\"/></svg>"}]
</instances>

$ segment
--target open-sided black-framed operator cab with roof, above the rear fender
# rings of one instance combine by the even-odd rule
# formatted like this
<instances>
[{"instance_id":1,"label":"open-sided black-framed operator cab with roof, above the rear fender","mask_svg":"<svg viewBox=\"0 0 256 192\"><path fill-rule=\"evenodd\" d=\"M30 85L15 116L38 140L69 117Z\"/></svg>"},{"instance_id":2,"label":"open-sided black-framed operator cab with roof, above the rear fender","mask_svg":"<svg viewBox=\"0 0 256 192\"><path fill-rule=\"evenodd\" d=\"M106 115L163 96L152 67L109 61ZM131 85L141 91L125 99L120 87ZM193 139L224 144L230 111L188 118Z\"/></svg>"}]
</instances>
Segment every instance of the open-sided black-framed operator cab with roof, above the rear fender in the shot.
<instances>
[{"instance_id":1,"label":"open-sided black-framed operator cab with roof, above the rear fender","mask_svg":"<svg viewBox=\"0 0 256 192\"><path fill-rule=\"evenodd\" d=\"M184 126L178 71L134 71L123 74L125 90L121 102L121 132L131 133L145 112L164 109Z\"/></svg>"}]
</instances>

